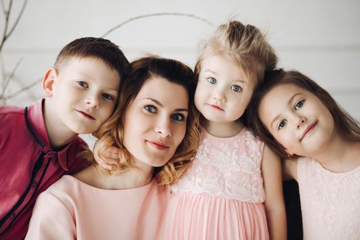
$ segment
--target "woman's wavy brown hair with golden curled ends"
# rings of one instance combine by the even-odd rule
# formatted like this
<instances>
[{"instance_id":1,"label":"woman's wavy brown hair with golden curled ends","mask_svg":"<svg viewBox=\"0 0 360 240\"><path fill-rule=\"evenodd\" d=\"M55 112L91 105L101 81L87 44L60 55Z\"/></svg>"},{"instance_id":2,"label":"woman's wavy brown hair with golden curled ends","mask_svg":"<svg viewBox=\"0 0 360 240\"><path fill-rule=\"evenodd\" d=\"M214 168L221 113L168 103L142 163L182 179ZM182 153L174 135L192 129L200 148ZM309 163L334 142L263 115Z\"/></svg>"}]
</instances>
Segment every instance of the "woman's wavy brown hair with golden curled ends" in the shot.
<instances>
[{"instance_id":1,"label":"woman's wavy brown hair with golden curled ends","mask_svg":"<svg viewBox=\"0 0 360 240\"><path fill-rule=\"evenodd\" d=\"M184 139L171 159L162 167L156 167L154 170L154 177L157 178L160 185L173 184L189 167L200 142L199 114L193 103L196 86L193 71L182 62L157 56L135 60L131 63L131 67L130 74L121 88L119 107L115 110L114 115L97 132L93 133L99 139L99 146L101 146L99 156L106 163L114 166L111 173L118 174L130 169L136 170L132 155L123 145L124 116L143 84L151 77L163 77L171 83L183 86L189 95L189 116ZM106 159L104 156L104 150L110 146L119 147L122 150L119 163Z\"/></svg>"}]
</instances>

